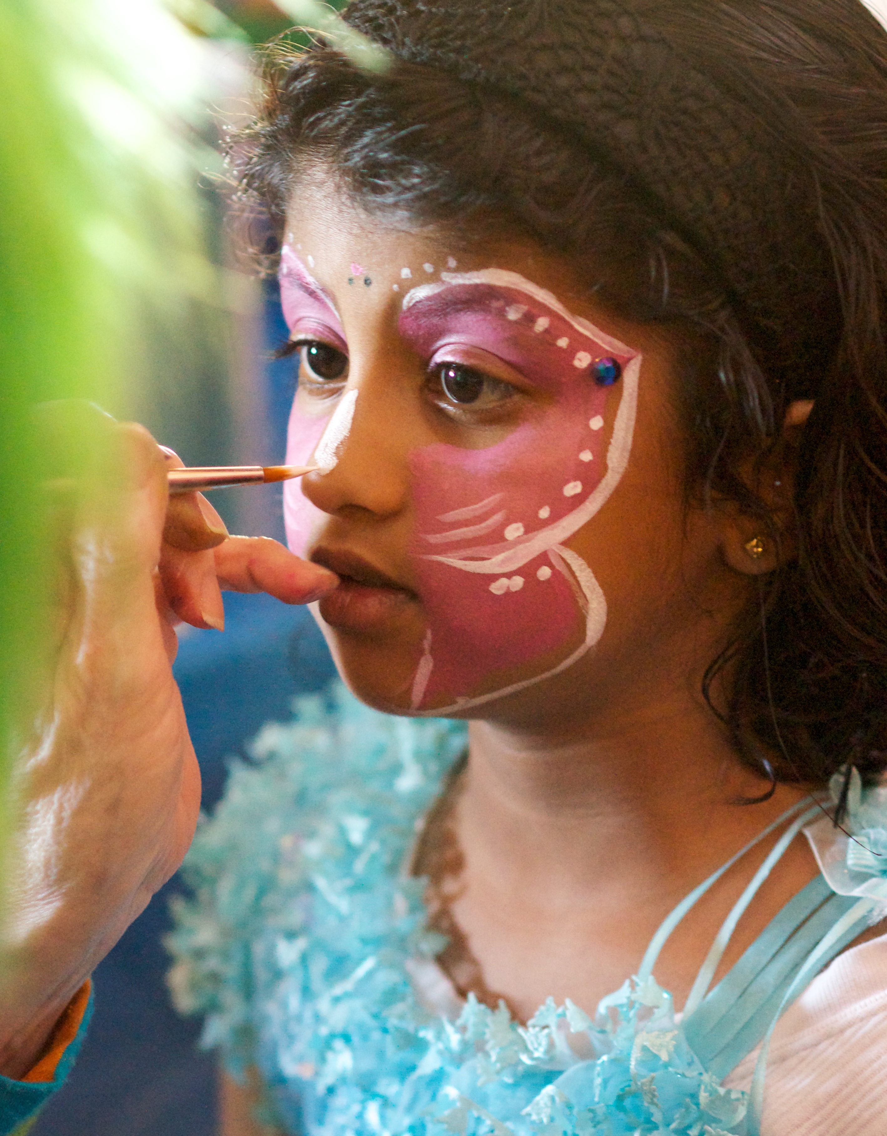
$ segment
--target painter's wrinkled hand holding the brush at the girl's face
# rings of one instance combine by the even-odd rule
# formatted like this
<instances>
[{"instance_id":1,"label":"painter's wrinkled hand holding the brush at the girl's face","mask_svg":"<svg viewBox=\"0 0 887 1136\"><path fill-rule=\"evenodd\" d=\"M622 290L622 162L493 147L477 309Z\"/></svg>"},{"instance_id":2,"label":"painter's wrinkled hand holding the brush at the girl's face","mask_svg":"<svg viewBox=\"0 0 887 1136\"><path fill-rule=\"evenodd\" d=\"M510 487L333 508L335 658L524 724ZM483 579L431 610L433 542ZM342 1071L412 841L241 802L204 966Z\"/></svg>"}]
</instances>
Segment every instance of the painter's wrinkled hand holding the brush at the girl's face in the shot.
<instances>
[{"instance_id":1,"label":"painter's wrinkled hand holding the brush at the girl's face","mask_svg":"<svg viewBox=\"0 0 887 1136\"><path fill-rule=\"evenodd\" d=\"M182 462L142 427L82 404L51 411L56 427L84 414L103 465L48 484L56 640L15 770L0 933L0 1072L10 1077L37 1060L193 836L200 771L173 678L175 624L220 628L221 588L304 603L337 583L276 541L229 537L198 494L168 499L166 470Z\"/></svg>"}]
</instances>

